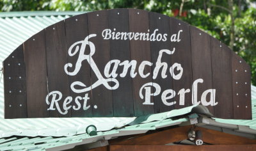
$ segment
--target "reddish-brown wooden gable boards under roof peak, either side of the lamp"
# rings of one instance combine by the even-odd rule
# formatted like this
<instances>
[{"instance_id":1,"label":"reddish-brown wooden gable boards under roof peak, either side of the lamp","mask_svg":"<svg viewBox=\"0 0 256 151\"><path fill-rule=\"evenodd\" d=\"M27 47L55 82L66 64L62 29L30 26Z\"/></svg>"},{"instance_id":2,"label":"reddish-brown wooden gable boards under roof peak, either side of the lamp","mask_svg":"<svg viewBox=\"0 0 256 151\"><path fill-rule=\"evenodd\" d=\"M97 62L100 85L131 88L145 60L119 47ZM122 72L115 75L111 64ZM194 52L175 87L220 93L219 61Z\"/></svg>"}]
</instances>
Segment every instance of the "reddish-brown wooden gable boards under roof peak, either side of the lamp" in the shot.
<instances>
[{"instance_id":1,"label":"reddish-brown wooden gable boards under roof peak, either side of the lamp","mask_svg":"<svg viewBox=\"0 0 256 151\"><path fill-rule=\"evenodd\" d=\"M188 132L191 126L177 127L165 131L154 132L152 134L145 134L130 139L118 139L109 141L110 145L165 145L175 141L188 139ZM256 144L255 139L243 138L232 134L227 134L220 131L196 127L195 131L202 131L203 141L214 145L245 145Z\"/></svg>"}]
</instances>

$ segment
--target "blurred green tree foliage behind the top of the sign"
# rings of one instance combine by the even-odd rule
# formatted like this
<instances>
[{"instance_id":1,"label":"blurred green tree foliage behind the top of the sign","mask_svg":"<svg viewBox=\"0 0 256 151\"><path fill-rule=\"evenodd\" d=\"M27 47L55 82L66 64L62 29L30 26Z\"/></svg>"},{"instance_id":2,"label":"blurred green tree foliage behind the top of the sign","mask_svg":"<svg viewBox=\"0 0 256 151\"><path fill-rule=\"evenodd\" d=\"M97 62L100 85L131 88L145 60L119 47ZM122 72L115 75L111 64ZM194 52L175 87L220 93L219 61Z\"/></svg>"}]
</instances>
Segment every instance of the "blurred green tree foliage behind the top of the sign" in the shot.
<instances>
[{"instance_id":1,"label":"blurred green tree foliage behind the top of the sign","mask_svg":"<svg viewBox=\"0 0 256 151\"><path fill-rule=\"evenodd\" d=\"M251 0L0 0L0 11L94 11L139 8L178 17L233 47L233 51L250 64L252 83L256 85L255 3ZM232 17L234 17L233 46L230 45Z\"/></svg>"}]
</instances>

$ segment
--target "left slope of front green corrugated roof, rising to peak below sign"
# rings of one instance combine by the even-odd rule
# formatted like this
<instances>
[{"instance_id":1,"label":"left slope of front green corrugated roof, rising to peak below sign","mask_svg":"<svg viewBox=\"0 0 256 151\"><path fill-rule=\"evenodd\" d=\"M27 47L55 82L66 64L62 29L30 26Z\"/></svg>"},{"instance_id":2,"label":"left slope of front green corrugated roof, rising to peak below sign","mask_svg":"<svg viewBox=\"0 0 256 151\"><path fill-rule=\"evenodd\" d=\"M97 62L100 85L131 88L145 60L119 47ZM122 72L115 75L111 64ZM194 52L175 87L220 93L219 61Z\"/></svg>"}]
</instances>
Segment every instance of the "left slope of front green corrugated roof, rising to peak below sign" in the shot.
<instances>
[{"instance_id":1,"label":"left slope of front green corrugated roof, rising to peak below sign","mask_svg":"<svg viewBox=\"0 0 256 151\"><path fill-rule=\"evenodd\" d=\"M179 125L180 123L189 122L188 117L177 118L177 116L186 115L188 113L193 113L193 109L199 111L199 113L204 113L204 115L209 115L208 109L204 106L190 106L183 109L174 109L165 113L158 113L147 116L143 120L134 120L134 123L130 123L125 127L115 128L109 131L97 132L96 136L89 136L88 134L77 134L75 136L67 136L61 138L53 137L12 137L12 138L2 138L0 139L0 150L46 150L47 148L55 148L61 146L61 150L73 148L76 145L89 144L99 140L108 141L108 139L116 138L118 136L126 136L131 134L141 134L147 131L154 131L162 127L169 127L172 125ZM86 127L84 127L85 129ZM65 148L65 145L67 146ZM64 147L63 147L64 146ZM54 149L54 150L55 150Z\"/></svg>"}]
</instances>

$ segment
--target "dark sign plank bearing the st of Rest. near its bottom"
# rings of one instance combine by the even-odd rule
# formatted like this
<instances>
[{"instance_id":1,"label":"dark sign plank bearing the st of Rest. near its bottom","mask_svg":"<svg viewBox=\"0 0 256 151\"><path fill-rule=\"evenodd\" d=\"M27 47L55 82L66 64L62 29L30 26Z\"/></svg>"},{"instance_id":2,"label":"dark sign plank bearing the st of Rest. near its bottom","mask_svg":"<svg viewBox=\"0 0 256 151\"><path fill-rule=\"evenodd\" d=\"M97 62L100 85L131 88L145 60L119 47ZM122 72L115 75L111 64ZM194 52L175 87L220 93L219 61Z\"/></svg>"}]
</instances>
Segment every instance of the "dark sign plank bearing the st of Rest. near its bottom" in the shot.
<instances>
[{"instance_id":1,"label":"dark sign plank bearing the st of Rest. near its bottom","mask_svg":"<svg viewBox=\"0 0 256 151\"><path fill-rule=\"evenodd\" d=\"M74 72L76 68L77 60L79 59L79 53L83 51L82 43L71 47L76 42L84 42L86 36L88 36L88 24L87 24L87 14L76 15L75 17L70 17L65 19L65 29L66 29L66 41L67 49L70 49L70 52L74 52L76 47L79 47L79 51L74 56L68 54L68 63L72 63L72 67L68 68L68 72ZM89 54L89 45L86 45L84 54ZM81 57L81 55L80 55ZM81 68L79 72L74 76L68 76L69 85L76 81L84 83L86 86L91 84L91 75L90 75L90 61L83 60L81 63ZM70 96L73 98L72 101L72 117L92 117L92 98L91 91L86 91L83 93L76 93L70 88ZM77 97L77 102L75 101ZM89 98L84 100L83 98ZM87 101L87 102L86 102Z\"/></svg>"}]
</instances>

